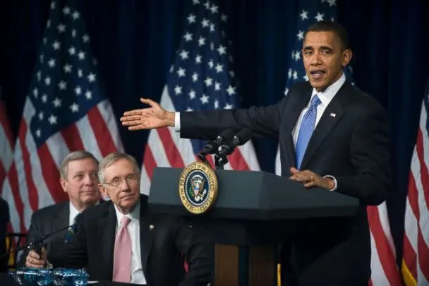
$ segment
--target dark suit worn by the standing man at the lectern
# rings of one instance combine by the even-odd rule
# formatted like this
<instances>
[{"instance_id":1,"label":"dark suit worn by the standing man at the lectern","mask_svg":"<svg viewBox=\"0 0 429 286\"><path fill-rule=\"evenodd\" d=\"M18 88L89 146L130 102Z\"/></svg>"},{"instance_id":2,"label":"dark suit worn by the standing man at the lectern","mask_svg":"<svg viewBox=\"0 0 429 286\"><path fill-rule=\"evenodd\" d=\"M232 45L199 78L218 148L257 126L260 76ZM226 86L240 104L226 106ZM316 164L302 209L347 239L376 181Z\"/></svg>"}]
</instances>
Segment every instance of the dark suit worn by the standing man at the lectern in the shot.
<instances>
[{"instance_id":1,"label":"dark suit worn by the standing man at the lectern","mask_svg":"<svg viewBox=\"0 0 429 286\"><path fill-rule=\"evenodd\" d=\"M181 137L212 139L225 129L246 127L255 136L279 136L282 175L296 156L292 131L313 88L298 83L276 105L219 112L181 113ZM310 138L301 169L337 178L337 192L359 198L354 217L308 220L284 244L283 278L300 285L368 285L370 235L366 205L385 200L390 184L385 110L344 83ZM296 282L296 281L295 281ZM294 284L292 282L291 284Z\"/></svg>"}]
</instances>

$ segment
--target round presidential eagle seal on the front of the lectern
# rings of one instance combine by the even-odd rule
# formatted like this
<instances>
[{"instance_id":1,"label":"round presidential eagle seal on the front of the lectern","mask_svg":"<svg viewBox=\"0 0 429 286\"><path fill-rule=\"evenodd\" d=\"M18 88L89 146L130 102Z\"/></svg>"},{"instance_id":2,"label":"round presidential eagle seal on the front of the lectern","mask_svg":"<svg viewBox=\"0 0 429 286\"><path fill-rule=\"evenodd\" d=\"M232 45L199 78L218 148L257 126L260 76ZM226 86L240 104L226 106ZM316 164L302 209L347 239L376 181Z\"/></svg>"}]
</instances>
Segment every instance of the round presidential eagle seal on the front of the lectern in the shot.
<instances>
[{"instance_id":1,"label":"round presidential eagle seal on the front of the lectern","mask_svg":"<svg viewBox=\"0 0 429 286\"><path fill-rule=\"evenodd\" d=\"M179 179L179 196L190 213L205 213L217 197L216 174L210 165L193 162L183 169Z\"/></svg>"}]
</instances>

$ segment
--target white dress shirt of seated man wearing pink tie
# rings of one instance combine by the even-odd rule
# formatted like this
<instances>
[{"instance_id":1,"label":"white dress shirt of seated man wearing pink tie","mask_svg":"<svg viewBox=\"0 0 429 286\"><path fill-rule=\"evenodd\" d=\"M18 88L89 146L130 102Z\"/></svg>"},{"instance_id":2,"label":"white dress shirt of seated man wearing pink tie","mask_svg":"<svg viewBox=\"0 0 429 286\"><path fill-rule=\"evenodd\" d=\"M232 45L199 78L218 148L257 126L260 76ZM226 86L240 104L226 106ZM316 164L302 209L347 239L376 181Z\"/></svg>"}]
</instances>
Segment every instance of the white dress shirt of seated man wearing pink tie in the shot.
<instances>
[{"instance_id":1,"label":"white dress shirt of seated man wearing pink tie","mask_svg":"<svg viewBox=\"0 0 429 286\"><path fill-rule=\"evenodd\" d=\"M118 233L123 213L115 206L116 211L116 229L115 237ZM131 283L146 284L145 274L143 273L142 258L140 253L140 202L135 205L131 213L126 215L131 220L126 229L131 237Z\"/></svg>"}]
</instances>

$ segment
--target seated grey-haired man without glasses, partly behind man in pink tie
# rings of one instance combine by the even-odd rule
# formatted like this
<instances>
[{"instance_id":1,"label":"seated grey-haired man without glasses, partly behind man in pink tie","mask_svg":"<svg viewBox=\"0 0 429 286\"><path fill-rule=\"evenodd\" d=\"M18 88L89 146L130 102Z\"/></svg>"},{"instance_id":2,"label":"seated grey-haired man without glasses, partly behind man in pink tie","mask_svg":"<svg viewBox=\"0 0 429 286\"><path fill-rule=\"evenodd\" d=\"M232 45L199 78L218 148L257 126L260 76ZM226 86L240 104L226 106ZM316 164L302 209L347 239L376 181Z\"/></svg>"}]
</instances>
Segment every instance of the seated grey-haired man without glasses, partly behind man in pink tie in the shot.
<instances>
[{"instance_id":1,"label":"seated grey-haired man without glasses, partly behind man in pink tie","mask_svg":"<svg viewBox=\"0 0 429 286\"><path fill-rule=\"evenodd\" d=\"M59 181L67 193L68 201L49 205L32 214L28 242L34 242L56 230L73 225L79 213L100 201L97 171L98 160L87 151L75 151L64 157ZM56 252L71 239L73 231L71 228L47 237L43 242L44 248L50 253ZM25 266L27 256L28 250L23 251L18 266Z\"/></svg>"}]
</instances>

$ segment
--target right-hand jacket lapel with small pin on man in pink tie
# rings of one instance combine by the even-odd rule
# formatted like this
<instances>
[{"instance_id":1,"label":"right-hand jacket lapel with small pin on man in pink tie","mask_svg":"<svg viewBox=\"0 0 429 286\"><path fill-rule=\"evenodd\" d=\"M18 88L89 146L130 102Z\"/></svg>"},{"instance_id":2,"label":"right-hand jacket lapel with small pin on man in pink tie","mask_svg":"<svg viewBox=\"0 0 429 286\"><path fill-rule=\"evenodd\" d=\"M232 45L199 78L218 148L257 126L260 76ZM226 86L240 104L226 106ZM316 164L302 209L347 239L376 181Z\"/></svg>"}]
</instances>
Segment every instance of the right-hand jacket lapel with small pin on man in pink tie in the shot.
<instances>
[{"instance_id":1,"label":"right-hand jacket lapel with small pin on man in pink tie","mask_svg":"<svg viewBox=\"0 0 429 286\"><path fill-rule=\"evenodd\" d=\"M157 231L157 225L155 225L155 218L147 208L146 198L147 197L140 197L140 256L142 259L143 273L145 273L147 282L150 282L148 280L150 277L147 273L147 259L149 258L152 242L155 237L155 232Z\"/></svg>"}]
</instances>

